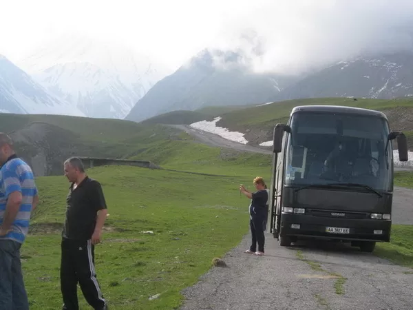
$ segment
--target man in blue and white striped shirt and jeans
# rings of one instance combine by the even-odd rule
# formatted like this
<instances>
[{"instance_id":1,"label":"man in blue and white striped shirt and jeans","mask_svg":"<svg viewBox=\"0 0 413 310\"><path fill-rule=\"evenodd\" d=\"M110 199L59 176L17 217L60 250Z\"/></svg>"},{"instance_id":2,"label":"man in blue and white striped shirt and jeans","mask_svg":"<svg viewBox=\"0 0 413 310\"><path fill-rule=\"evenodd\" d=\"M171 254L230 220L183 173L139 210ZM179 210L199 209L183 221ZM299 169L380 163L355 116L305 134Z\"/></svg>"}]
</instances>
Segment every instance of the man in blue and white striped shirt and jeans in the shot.
<instances>
[{"instance_id":1,"label":"man in blue and white striped shirt and jeans","mask_svg":"<svg viewBox=\"0 0 413 310\"><path fill-rule=\"evenodd\" d=\"M17 157L10 136L0 132L0 309L28 310L20 248L39 202L30 166Z\"/></svg>"}]
</instances>

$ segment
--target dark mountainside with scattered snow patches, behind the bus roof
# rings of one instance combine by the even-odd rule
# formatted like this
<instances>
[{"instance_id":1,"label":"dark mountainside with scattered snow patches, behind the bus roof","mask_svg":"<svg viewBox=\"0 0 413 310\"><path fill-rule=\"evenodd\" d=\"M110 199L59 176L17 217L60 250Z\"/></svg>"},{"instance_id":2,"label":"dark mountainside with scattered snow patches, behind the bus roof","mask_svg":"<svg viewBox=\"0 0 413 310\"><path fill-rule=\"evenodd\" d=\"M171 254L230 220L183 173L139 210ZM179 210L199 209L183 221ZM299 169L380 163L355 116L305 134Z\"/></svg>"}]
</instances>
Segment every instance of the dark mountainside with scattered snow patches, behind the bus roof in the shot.
<instances>
[{"instance_id":1,"label":"dark mountainside with scattered snow patches, behind the bus roof","mask_svg":"<svg viewBox=\"0 0 413 310\"><path fill-rule=\"evenodd\" d=\"M278 100L355 96L393 99L413 96L413 53L363 56L306 76Z\"/></svg>"}]
</instances>

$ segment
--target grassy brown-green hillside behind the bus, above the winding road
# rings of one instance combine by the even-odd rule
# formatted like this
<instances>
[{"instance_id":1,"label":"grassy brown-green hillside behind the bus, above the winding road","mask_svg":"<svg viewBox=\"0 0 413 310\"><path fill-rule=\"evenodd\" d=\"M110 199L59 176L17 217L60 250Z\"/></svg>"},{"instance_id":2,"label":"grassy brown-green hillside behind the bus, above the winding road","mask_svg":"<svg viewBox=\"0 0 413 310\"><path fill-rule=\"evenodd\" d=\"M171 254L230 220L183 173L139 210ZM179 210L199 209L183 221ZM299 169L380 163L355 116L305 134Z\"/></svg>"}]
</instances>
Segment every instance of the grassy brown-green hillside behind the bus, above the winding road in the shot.
<instances>
[{"instance_id":1,"label":"grassy brown-green hillside behind the bus, above the winding road","mask_svg":"<svg viewBox=\"0 0 413 310\"><path fill-rule=\"evenodd\" d=\"M413 99L353 99L348 98L320 98L298 99L275 102L268 105L204 107L196 111L178 111L162 114L151 118L142 124L185 124L197 121L211 121L213 117L221 116L216 124L228 128L229 131L244 132L245 138L252 145L258 145L272 139L273 127L277 123L286 123L291 110L297 105L348 105L364 107L384 112L394 130L403 130L410 145L413 143Z\"/></svg>"}]
</instances>

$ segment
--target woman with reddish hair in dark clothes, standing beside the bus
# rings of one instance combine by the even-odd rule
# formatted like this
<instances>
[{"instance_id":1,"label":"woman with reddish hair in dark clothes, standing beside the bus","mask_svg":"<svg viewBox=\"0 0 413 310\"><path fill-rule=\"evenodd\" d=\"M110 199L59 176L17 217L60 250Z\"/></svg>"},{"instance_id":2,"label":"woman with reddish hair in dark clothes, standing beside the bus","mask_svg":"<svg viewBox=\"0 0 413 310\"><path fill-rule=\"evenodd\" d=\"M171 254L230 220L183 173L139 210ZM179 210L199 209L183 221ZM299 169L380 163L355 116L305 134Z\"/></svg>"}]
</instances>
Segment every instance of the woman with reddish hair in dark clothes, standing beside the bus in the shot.
<instances>
[{"instance_id":1,"label":"woman with reddish hair in dark clothes, standing beside the bus","mask_svg":"<svg viewBox=\"0 0 413 310\"><path fill-rule=\"evenodd\" d=\"M269 194L268 189L266 189L264 179L261 176L257 176L253 182L255 189L257 189L257 192L254 193L248 192L244 185L240 186L240 191L242 192L242 194L251 199L249 214L252 244L251 247L245 251L245 253L262 256L264 255L264 230L268 218Z\"/></svg>"}]
</instances>

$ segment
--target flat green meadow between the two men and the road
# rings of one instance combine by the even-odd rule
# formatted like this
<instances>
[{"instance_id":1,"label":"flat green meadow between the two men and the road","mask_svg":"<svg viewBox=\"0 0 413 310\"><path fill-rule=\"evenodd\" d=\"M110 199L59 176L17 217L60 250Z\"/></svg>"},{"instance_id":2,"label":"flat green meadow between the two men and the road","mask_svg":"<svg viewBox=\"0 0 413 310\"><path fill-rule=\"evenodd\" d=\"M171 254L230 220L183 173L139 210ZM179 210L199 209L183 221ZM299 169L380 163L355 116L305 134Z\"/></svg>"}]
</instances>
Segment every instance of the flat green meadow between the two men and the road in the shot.
<instances>
[{"instance_id":1,"label":"flat green meadow between the two men and the road","mask_svg":"<svg viewBox=\"0 0 413 310\"><path fill-rule=\"evenodd\" d=\"M249 178L117 166L97 167L89 175L100 180L109 205L109 230L96 247L96 270L111 309L178 307L180 291L248 232L248 200L238 187ZM36 182L41 204L22 248L25 283L30 309L59 309L59 242L68 183L60 176ZM154 234L141 233L147 230ZM157 293L160 298L148 300Z\"/></svg>"}]
</instances>

